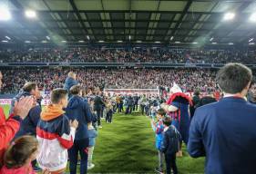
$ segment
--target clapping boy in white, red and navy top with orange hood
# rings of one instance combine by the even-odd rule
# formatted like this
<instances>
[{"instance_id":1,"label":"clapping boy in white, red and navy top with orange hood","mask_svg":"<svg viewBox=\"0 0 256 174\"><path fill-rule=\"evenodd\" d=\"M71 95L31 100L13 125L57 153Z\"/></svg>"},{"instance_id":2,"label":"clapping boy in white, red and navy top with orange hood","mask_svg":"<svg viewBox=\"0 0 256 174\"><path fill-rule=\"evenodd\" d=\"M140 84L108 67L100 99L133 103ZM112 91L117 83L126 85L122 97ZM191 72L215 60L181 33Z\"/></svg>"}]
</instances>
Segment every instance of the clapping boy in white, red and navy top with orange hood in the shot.
<instances>
[{"instance_id":1,"label":"clapping boy in white, red and navy top with orange hood","mask_svg":"<svg viewBox=\"0 0 256 174\"><path fill-rule=\"evenodd\" d=\"M73 146L78 127L77 120L69 121L63 108L67 108L67 90L51 92L51 104L41 112L36 128L39 142L37 161L51 174L64 173L67 168L67 150Z\"/></svg>"}]
</instances>

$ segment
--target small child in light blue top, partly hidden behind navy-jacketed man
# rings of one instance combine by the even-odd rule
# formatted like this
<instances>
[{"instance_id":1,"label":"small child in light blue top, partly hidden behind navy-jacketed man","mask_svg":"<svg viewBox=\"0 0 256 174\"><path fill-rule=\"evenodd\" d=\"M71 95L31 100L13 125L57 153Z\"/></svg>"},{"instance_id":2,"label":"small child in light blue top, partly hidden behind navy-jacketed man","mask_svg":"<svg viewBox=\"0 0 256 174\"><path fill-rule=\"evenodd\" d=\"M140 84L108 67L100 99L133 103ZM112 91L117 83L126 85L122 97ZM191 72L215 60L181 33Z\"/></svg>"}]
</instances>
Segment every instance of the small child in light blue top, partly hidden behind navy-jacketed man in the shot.
<instances>
[{"instance_id":1,"label":"small child in light blue top, partly hidden behind navy-jacketed man","mask_svg":"<svg viewBox=\"0 0 256 174\"><path fill-rule=\"evenodd\" d=\"M95 165L92 163L92 157L93 157L93 150L95 147L95 140L97 138L97 130L92 125L92 122L88 123L88 136L89 136L89 149L88 149L87 169L93 169Z\"/></svg>"}]
</instances>

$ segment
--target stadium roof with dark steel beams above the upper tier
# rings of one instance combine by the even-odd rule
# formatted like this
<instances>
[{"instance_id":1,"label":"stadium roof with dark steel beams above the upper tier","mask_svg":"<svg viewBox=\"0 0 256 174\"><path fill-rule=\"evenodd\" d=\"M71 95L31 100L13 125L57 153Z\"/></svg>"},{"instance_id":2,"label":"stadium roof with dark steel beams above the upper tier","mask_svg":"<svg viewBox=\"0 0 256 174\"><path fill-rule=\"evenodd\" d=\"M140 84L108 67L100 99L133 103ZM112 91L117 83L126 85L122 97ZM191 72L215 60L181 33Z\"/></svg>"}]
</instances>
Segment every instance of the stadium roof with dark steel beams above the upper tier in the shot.
<instances>
[{"instance_id":1,"label":"stadium roof with dark steel beams above the upper tier","mask_svg":"<svg viewBox=\"0 0 256 174\"><path fill-rule=\"evenodd\" d=\"M249 0L2 0L12 18L0 39L67 43L248 43L256 38ZM26 10L35 10L36 19ZM234 13L233 20L223 20ZM47 36L47 38L46 38ZM46 42L45 41L45 42Z\"/></svg>"}]
</instances>

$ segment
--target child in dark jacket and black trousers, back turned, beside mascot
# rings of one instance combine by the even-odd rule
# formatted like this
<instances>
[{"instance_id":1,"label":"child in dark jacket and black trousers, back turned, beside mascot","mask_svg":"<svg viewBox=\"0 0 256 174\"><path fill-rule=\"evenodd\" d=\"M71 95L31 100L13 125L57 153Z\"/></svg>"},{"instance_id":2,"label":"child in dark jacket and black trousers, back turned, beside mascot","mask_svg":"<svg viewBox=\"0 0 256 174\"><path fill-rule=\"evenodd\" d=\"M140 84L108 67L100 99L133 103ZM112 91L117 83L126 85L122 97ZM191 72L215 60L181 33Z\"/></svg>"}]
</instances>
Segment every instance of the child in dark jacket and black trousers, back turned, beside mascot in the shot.
<instances>
[{"instance_id":1,"label":"child in dark jacket and black trousers, back turned, beside mascot","mask_svg":"<svg viewBox=\"0 0 256 174\"><path fill-rule=\"evenodd\" d=\"M170 174L170 169L172 169L173 174L178 174L176 153L180 150L181 135L179 131L171 125L170 117L165 117L163 124L165 128L160 150L165 155L166 172Z\"/></svg>"}]
</instances>

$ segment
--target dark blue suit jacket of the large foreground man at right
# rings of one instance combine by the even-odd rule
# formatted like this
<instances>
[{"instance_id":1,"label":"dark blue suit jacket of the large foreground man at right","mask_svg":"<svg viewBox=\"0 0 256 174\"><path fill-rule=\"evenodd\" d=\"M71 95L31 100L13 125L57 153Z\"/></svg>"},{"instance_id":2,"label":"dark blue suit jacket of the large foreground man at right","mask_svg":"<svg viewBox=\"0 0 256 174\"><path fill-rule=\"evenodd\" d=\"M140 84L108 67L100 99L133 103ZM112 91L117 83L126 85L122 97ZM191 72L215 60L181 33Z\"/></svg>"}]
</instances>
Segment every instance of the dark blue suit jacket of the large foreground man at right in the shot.
<instances>
[{"instance_id":1,"label":"dark blue suit jacket of the large foreground man at right","mask_svg":"<svg viewBox=\"0 0 256 174\"><path fill-rule=\"evenodd\" d=\"M256 106L226 97L195 111L190 124L191 157L206 156L207 174L255 173Z\"/></svg>"}]
</instances>

